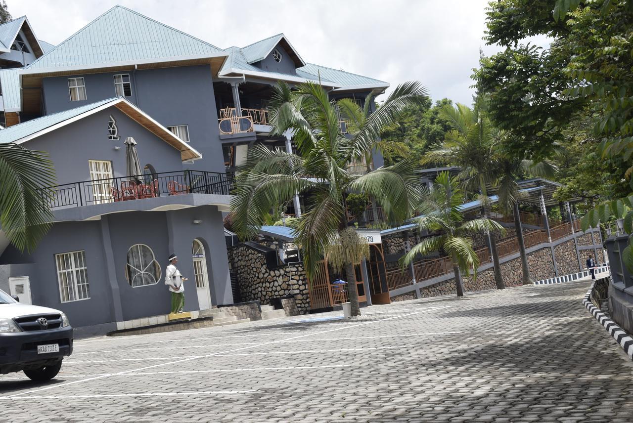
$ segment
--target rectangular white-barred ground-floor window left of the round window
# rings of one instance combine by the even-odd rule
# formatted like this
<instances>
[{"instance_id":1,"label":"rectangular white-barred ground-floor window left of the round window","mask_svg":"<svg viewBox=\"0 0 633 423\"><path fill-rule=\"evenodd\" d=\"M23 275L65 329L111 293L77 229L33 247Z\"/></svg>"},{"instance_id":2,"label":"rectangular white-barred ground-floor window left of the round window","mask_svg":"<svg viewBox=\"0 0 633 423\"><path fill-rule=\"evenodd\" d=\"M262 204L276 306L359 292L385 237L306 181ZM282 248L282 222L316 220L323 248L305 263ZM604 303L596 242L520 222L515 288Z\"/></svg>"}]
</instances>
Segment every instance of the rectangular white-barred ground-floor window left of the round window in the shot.
<instances>
[{"instance_id":1,"label":"rectangular white-barred ground-floor window left of the round window","mask_svg":"<svg viewBox=\"0 0 633 423\"><path fill-rule=\"evenodd\" d=\"M85 251L55 254L60 300L63 303L90 298Z\"/></svg>"}]
</instances>

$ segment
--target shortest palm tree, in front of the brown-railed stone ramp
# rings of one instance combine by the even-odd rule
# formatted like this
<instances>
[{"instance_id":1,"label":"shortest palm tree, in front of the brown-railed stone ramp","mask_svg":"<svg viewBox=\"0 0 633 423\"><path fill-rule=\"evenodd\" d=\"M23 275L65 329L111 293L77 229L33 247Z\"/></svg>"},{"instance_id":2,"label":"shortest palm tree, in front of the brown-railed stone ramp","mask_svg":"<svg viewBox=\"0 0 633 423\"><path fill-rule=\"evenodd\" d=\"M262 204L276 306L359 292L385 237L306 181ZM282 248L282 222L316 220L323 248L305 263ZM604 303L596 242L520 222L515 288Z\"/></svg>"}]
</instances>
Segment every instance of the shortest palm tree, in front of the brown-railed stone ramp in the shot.
<instances>
[{"instance_id":1,"label":"shortest palm tree, in front of the brown-railed stone ramp","mask_svg":"<svg viewBox=\"0 0 633 423\"><path fill-rule=\"evenodd\" d=\"M464 288L461 274L472 270L477 277L479 257L473 249L472 238L468 235L484 231L502 231L503 227L491 219L480 218L464 222L460 205L464 202L464 195L457 178L451 178L448 172L437 175L434 188L424 188L418 211L422 214L417 218L420 229L438 233L425 238L415 245L401 259L401 264L410 264L418 254L427 255L431 252L443 250L453 261L453 273L457 296L463 297Z\"/></svg>"}]
</instances>

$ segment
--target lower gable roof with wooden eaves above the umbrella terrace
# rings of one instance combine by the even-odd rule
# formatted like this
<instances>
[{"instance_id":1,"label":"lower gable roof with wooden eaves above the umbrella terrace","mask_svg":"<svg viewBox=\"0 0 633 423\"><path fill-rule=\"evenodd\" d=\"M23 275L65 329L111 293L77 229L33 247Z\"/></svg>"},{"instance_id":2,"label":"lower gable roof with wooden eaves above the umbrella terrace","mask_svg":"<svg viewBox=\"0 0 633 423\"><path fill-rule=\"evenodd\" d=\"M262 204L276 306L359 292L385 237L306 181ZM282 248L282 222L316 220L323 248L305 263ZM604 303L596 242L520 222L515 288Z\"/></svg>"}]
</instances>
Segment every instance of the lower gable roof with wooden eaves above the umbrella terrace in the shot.
<instances>
[{"instance_id":1,"label":"lower gable roof with wooden eaves above the umbrella terrace","mask_svg":"<svg viewBox=\"0 0 633 423\"><path fill-rule=\"evenodd\" d=\"M115 106L117 109L127 114L130 119L136 121L139 125L144 126L147 130L149 130L149 132L154 133L154 135L161 138L167 144L170 144L175 149L180 150L180 158L182 161L202 158L202 155L196 149L181 140L170 130L165 128L165 126L155 121L151 118L151 116L123 97L97 101L92 104L76 107L75 109L48 114L46 116L42 116L41 118L9 126L8 128L0 130L0 144L9 144L11 142L15 142L15 144L22 144L23 142L40 137L45 133L54 131L62 126L66 126L112 106Z\"/></svg>"}]
</instances>

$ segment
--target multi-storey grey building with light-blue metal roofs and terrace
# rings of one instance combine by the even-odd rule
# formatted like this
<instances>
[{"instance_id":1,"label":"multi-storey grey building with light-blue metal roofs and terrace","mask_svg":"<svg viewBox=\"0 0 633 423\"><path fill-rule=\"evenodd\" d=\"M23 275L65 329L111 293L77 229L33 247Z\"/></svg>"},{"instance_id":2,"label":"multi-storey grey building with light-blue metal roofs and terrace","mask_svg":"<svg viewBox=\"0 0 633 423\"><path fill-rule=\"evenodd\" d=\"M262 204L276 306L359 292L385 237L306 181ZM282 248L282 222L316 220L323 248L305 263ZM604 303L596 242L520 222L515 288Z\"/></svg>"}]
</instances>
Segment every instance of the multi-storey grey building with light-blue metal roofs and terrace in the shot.
<instances>
[{"instance_id":1,"label":"multi-storey grey building with light-blue metal roofs and terrace","mask_svg":"<svg viewBox=\"0 0 633 423\"><path fill-rule=\"evenodd\" d=\"M53 228L35 251L19 252L0 230L0 288L93 333L169 311L171 253L189 276L185 310L234 302L222 213L250 145L292 149L292 134L269 136L279 80L359 102L389 86L306 63L283 34L220 49L122 6L58 46L37 40L26 18L12 22L0 25L0 42L15 30L32 57L0 70L0 142L49 152L60 185Z\"/></svg>"}]
</instances>

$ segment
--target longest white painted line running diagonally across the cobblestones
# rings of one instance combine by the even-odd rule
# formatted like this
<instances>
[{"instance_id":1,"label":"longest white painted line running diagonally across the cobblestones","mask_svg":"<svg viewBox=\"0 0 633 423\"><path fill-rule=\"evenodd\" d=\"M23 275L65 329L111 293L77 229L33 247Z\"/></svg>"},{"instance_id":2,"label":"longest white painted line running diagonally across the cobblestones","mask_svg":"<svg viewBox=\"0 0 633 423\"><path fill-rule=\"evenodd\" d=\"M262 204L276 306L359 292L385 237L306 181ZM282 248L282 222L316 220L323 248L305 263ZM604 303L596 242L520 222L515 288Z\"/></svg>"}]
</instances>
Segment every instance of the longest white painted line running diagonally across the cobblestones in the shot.
<instances>
[{"instance_id":1,"label":"longest white painted line running diagonally across the cobblestones","mask_svg":"<svg viewBox=\"0 0 633 423\"><path fill-rule=\"evenodd\" d=\"M346 326L344 328L333 328L333 329L327 329L325 331L320 331L320 332L316 332L316 333L306 333L306 334L297 335L297 336L294 336L293 338L289 338L289 340L298 339L298 338L304 338L306 336L313 336L313 335L317 335L317 334L341 331L341 330L344 330L344 329L349 329L349 328L358 327L358 326L365 326L367 324L375 324L375 323L384 322L384 321L388 321L388 320L392 320L392 319L400 319L400 318L406 317L406 316L414 316L415 314L422 314L422 313L432 312L432 311L435 311L435 310L448 309L449 307L453 307L453 306L452 305L444 305L442 307L431 307L429 309L423 309L423 310L411 312L411 313L408 313L408 314L401 314L401 315L398 315L398 316L385 317L384 319L378 319L378 320L373 320L373 321L368 321L368 322L358 322L358 323L356 323L354 325ZM289 341L289 340L285 340L285 341ZM272 345L272 344L275 344L275 343L279 343L279 341L263 342L263 343L260 343L260 344L257 344L257 345L244 346L242 348L236 348L235 350L228 350L228 351L223 351L223 352L218 352L218 353L211 353L211 354L207 354L207 355L201 355L201 356L197 356L197 357L191 358L191 359L172 360L172 361L169 361L169 362L166 362L166 363L160 363L160 364L149 365L149 366L146 366L146 367L141 367L140 369L132 369L132 370L128 370L128 371L117 372L116 374L134 373L134 372L144 371L144 370L147 370L147 369L154 369L156 367L162 367L162 366L165 366L165 365L173 366L175 364L188 362L188 361L191 361L191 360L213 357L215 355L220 355L221 353L225 354L225 353L230 353L230 352L237 352L237 351L242 351L242 350L248 350L249 348L256 348L258 346ZM110 375L108 375L108 376L110 376ZM64 386L70 386L70 385L77 384L77 383L84 383L84 382L94 381L94 380L97 380L97 379L103 379L104 377L108 377L108 376L87 377L86 379L81 379L80 381L73 381L73 382L67 382L67 383L54 384L54 385L51 385L51 386L45 386L44 388L31 389L30 391L26 391L24 393L19 393L19 394L9 395L9 396L3 396L3 397L0 397L0 399L11 399L11 398L14 398L14 397L17 397L17 396L27 396L27 398L28 398L29 396L27 394L32 394L32 393L41 392L41 391L47 391L49 389L62 388Z\"/></svg>"}]
</instances>

